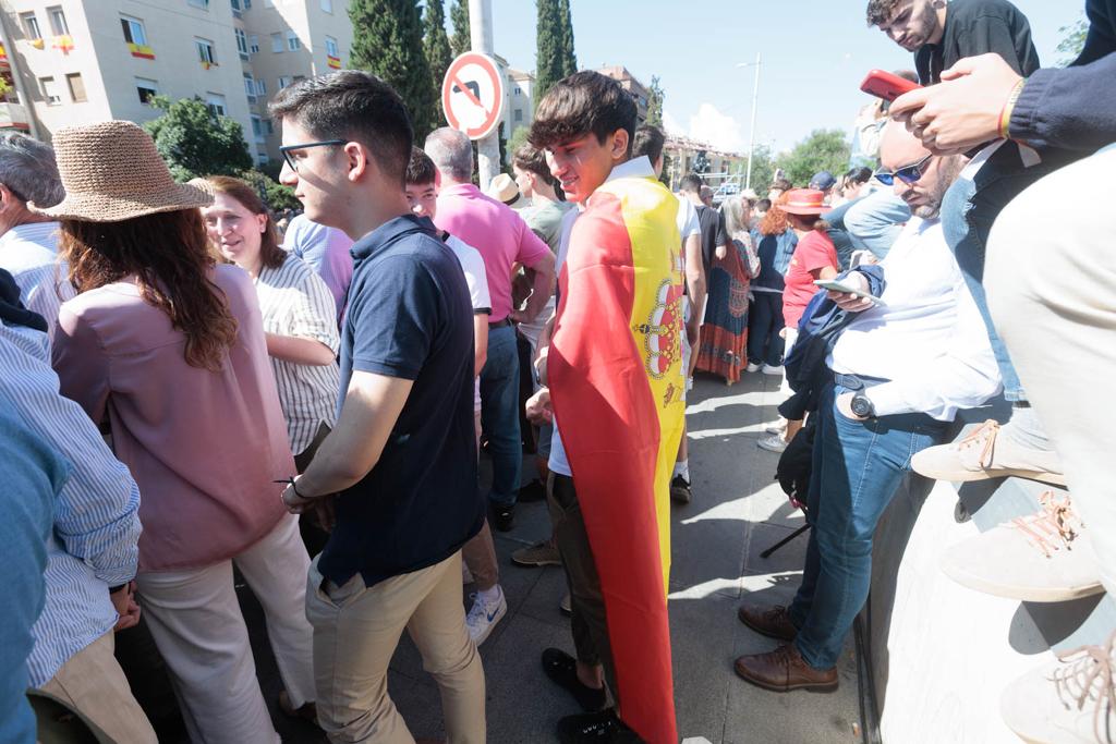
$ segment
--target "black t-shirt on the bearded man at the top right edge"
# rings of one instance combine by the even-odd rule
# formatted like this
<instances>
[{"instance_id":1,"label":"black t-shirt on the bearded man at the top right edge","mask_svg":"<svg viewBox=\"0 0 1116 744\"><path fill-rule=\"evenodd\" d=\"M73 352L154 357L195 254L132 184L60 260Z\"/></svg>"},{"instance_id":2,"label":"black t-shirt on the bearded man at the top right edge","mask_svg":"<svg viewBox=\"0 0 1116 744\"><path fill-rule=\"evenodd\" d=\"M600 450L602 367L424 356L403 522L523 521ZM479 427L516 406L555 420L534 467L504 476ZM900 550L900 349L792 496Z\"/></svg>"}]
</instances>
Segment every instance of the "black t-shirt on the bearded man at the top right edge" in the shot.
<instances>
[{"instance_id":1,"label":"black t-shirt on the bearded man at the top right edge","mask_svg":"<svg viewBox=\"0 0 1116 744\"><path fill-rule=\"evenodd\" d=\"M1039 68L1031 26L1018 8L1008 0L952 0L942 41L922 47L914 61L922 84L932 85L959 59L989 52L1000 55L1023 77Z\"/></svg>"}]
</instances>

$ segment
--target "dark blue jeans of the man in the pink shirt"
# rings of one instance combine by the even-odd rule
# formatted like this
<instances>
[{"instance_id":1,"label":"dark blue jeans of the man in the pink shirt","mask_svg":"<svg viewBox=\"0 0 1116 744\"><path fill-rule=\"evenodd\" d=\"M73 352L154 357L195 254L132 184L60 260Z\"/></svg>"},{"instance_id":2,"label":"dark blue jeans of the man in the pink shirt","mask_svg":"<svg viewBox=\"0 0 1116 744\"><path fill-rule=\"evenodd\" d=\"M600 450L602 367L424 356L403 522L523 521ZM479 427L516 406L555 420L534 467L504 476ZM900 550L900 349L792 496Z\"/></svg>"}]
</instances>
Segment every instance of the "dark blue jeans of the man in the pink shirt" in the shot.
<instances>
[{"instance_id":1,"label":"dark blue jeans of the man in the pink shirt","mask_svg":"<svg viewBox=\"0 0 1116 744\"><path fill-rule=\"evenodd\" d=\"M489 329L488 361L481 369L481 431L492 454L489 499L513 505L523 467L523 442L519 432L519 351L511 326Z\"/></svg>"}]
</instances>

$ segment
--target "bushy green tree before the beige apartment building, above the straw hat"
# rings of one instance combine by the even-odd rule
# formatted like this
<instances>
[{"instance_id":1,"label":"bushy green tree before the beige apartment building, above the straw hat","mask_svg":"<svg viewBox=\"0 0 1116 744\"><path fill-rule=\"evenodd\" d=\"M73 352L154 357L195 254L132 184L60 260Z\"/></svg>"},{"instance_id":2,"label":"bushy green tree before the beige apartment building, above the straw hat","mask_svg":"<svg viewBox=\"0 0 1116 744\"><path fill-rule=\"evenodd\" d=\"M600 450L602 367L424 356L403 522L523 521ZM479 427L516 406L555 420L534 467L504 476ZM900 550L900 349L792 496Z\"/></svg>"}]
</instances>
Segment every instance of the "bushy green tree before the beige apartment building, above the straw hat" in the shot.
<instances>
[{"instance_id":1,"label":"bushy green tree before the beige apartment building, above the straw hat","mask_svg":"<svg viewBox=\"0 0 1116 744\"><path fill-rule=\"evenodd\" d=\"M214 114L201 98L171 102L155 96L163 114L144 124L176 181L206 175L238 175L252 167L240 123Z\"/></svg>"}]
</instances>

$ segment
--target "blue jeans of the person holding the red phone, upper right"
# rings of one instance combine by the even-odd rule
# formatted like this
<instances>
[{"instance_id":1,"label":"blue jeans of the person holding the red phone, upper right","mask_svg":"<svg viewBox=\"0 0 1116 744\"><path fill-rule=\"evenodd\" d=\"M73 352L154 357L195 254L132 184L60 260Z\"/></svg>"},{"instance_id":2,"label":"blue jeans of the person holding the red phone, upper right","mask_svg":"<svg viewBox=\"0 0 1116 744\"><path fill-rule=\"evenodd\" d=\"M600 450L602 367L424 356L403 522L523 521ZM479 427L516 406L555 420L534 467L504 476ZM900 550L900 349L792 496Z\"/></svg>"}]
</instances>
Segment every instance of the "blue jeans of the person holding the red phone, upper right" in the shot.
<instances>
[{"instance_id":1,"label":"blue jeans of the person holding the red phone, upper right","mask_svg":"<svg viewBox=\"0 0 1116 744\"><path fill-rule=\"evenodd\" d=\"M1008 347L997 332L988 311L984 294L984 255L992 223L1008 202L1024 189L1058 167L1061 158L1043 154L1039 165L1024 168L1019 155L1019 146L1006 143L995 151L970 181L958 178L942 201L942 232L945 242L958 261L961 276L973 301L980 308L992 352L1003 378L1003 397L1012 403L1027 400L1027 394L1019 381Z\"/></svg>"}]
</instances>

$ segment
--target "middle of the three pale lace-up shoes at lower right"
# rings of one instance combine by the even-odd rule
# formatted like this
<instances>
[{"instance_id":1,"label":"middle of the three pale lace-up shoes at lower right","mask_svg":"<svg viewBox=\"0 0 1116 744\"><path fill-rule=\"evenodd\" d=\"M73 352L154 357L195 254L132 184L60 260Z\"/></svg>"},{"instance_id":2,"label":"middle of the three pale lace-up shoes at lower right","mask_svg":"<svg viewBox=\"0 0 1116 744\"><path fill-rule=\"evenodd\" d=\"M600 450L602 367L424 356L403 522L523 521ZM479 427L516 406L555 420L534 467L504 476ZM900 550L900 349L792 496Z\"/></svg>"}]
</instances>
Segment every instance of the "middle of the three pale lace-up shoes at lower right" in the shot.
<instances>
[{"instance_id":1,"label":"middle of the three pale lace-up shoes at lower right","mask_svg":"<svg viewBox=\"0 0 1116 744\"><path fill-rule=\"evenodd\" d=\"M1024 602L1062 602L1098 595L1100 570L1089 532L1069 496L1048 491L1042 508L952 545L942 570L958 583Z\"/></svg>"}]
</instances>

